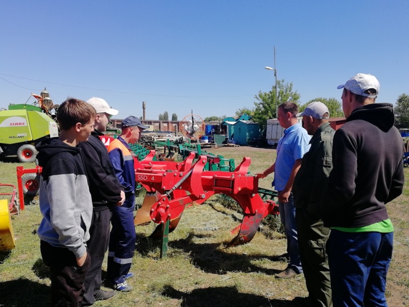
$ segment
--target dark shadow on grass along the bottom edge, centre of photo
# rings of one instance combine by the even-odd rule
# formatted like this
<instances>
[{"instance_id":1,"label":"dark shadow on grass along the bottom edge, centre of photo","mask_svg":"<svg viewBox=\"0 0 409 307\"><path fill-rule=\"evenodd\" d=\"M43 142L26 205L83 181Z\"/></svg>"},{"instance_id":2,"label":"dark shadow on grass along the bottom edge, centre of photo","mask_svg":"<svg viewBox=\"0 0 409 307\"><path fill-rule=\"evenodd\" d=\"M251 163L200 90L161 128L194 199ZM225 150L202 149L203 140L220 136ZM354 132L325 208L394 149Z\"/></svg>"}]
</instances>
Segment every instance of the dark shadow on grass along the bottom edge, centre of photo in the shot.
<instances>
[{"instance_id":1,"label":"dark shadow on grass along the bottom edge, centre of photo","mask_svg":"<svg viewBox=\"0 0 409 307\"><path fill-rule=\"evenodd\" d=\"M286 307L292 305L289 300L268 299L260 295L240 293L235 287L209 287L182 292L171 286L165 286L162 295L181 299L181 307Z\"/></svg>"}]
</instances>

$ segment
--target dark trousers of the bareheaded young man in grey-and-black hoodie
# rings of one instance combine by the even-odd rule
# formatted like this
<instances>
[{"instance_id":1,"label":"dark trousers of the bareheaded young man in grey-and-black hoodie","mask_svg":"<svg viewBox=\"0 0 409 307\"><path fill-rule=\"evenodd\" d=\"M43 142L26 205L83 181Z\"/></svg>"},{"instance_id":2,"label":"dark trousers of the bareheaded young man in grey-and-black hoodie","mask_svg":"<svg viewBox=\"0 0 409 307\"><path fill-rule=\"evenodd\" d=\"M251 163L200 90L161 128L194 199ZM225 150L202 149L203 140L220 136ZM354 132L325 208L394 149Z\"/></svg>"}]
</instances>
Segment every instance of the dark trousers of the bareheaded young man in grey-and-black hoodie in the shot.
<instances>
[{"instance_id":1,"label":"dark trousers of the bareheaded young man in grey-and-black hoodie","mask_svg":"<svg viewBox=\"0 0 409 307\"><path fill-rule=\"evenodd\" d=\"M40 250L44 264L50 267L51 305L78 307L84 295L84 281L91 263L87 255L84 265L78 267L72 251L54 247L40 240Z\"/></svg>"}]
</instances>

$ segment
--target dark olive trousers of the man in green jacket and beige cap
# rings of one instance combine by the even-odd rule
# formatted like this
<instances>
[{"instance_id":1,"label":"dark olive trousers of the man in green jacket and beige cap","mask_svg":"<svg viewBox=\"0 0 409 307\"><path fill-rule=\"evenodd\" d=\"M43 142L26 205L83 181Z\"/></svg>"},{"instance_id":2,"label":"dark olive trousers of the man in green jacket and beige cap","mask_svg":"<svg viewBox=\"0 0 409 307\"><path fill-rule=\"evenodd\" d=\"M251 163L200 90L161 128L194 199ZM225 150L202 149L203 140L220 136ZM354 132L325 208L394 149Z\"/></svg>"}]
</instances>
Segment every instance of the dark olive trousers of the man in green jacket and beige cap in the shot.
<instances>
[{"instance_id":1,"label":"dark olive trousers of the man in green jacket and beige cap","mask_svg":"<svg viewBox=\"0 0 409 307\"><path fill-rule=\"evenodd\" d=\"M330 230L322 220L306 223L296 209L298 247L303 266L308 300L312 306L332 306L331 279L326 244Z\"/></svg>"}]
</instances>

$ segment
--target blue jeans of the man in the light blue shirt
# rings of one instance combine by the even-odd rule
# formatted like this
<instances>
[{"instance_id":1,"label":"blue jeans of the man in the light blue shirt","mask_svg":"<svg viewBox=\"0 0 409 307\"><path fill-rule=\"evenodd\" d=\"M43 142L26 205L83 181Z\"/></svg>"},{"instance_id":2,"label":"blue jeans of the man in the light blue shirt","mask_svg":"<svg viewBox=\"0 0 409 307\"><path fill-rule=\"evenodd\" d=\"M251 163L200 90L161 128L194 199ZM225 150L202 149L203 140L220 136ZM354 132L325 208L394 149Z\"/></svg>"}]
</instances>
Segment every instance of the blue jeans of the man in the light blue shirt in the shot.
<instances>
[{"instance_id":1,"label":"blue jeans of the man in the light blue shirt","mask_svg":"<svg viewBox=\"0 0 409 307\"><path fill-rule=\"evenodd\" d=\"M298 236L296 226L296 207L294 207L294 196L292 192L288 198L288 203L278 202L280 209L280 220L285 228L285 236L287 237L287 253L290 257L289 268L296 273L303 273L301 267L300 253L298 251Z\"/></svg>"}]
</instances>

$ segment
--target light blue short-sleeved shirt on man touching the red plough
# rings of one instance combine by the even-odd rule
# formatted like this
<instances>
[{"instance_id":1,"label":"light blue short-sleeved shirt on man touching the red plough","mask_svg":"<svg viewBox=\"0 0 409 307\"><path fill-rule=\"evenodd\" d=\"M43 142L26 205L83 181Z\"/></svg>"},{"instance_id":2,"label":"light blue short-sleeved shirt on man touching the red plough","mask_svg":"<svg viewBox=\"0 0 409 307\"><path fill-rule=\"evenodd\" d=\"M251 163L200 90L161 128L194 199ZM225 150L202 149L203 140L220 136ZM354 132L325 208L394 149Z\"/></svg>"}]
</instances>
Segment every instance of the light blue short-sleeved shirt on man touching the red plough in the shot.
<instances>
[{"instance_id":1,"label":"light blue short-sleeved shirt on man touching the red plough","mask_svg":"<svg viewBox=\"0 0 409 307\"><path fill-rule=\"evenodd\" d=\"M274 169L274 181L272 185L277 191L282 191L290 178L292 167L296 160L303 158L309 148L311 137L301 123L292 125L284 130L284 136L277 145L277 159Z\"/></svg>"}]
</instances>

